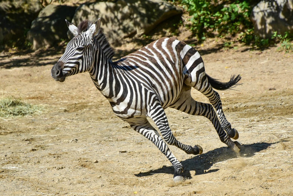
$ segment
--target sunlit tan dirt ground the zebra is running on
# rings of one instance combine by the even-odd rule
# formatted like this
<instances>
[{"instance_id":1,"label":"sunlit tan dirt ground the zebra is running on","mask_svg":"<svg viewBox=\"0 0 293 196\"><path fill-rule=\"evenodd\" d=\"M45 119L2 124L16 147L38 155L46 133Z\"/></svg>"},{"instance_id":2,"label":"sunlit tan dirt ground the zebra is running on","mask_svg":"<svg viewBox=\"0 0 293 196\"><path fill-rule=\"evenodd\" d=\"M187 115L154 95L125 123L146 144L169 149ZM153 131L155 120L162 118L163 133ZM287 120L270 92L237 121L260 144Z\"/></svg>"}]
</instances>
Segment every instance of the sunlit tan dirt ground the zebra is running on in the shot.
<instances>
[{"instance_id":1,"label":"sunlit tan dirt ground the zebra is running on","mask_svg":"<svg viewBox=\"0 0 293 196\"><path fill-rule=\"evenodd\" d=\"M51 78L64 48L10 51L0 54L1 98L45 110L0 118L0 195L293 195L293 53L226 50L216 41L196 48L210 76L242 76L236 91L218 92L243 156L221 143L206 118L167 109L176 138L204 150L194 156L170 146L185 167L186 180L174 184L171 163L113 114L88 73L64 83Z\"/></svg>"}]
</instances>

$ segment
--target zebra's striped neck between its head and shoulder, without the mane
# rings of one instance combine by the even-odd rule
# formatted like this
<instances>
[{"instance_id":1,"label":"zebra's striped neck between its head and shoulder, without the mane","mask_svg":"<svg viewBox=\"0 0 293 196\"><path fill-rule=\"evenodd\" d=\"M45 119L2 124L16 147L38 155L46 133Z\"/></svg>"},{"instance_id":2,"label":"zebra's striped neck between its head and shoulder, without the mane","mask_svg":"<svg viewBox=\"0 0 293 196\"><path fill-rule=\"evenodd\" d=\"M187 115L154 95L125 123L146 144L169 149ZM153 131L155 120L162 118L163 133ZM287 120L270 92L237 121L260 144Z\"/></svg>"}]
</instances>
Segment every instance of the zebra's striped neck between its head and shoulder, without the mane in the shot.
<instances>
[{"instance_id":1,"label":"zebra's striped neck between its head and shoulder, without the mane","mask_svg":"<svg viewBox=\"0 0 293 196\"><path fill-rule=\"evenodd\" d=\"M98 44L98 49L94 55L94 61L92 69L89 71L93 83L96 88L106 97L113 97L113 83L115 83L115 74L112 66L112 62L109 61L103 49Z\"/></svg>"}]
</instances>

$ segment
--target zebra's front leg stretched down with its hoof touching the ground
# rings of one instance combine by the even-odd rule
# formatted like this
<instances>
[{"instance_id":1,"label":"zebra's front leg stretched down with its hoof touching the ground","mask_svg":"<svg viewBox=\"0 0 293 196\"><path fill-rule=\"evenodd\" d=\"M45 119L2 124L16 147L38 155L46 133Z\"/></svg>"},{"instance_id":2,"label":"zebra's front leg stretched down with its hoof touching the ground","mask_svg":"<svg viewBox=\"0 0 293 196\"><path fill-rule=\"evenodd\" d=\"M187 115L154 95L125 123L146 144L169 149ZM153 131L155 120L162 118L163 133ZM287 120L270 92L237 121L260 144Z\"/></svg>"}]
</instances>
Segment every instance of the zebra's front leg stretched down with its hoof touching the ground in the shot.
<instances>
[{"instance_id":1,"label":"zebra's front leg stretched down with its hoof touching the ground","mask_svg":"<svg viewBox=\"0 0 293 196\"><path fill-rule=\"evenodd\" d=\"M182 176L183 165L176 159L171 150L168 148L168 145L164 142L156 129L151 126L149 121L144 119L143 122L144 123L131 122L129 124L135 131L142 134L144 137L154 143L157 148L159 148L159 150L168 158L174 167L174 182L182 182L184 180Z\"/></svg>"}]
</instances>

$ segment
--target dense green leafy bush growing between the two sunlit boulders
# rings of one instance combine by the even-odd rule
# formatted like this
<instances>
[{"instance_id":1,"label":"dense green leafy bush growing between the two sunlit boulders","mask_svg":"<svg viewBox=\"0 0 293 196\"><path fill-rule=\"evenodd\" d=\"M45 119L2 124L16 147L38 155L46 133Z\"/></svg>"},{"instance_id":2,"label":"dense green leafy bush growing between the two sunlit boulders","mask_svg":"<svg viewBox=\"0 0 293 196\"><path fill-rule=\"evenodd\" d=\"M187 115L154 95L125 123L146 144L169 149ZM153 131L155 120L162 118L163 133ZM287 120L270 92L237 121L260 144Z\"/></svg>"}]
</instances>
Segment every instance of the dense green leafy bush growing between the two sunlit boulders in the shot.
<instances>
[{"instance_id":1,"label":"dense green leafy bush growing between the two sunlit boulders","mask_svg":"<svg viewBox=\"0 0 293 196\"><path fill-rule=\"evenodd\" d=\"M235 35L243 29L252 29L251 6L248 1L236 0L233 3L215 0L182 0L190 18L190 30L201 40L213 36ZM225 4L226 2L226 4Z\"/></svg>"}]
</instances>

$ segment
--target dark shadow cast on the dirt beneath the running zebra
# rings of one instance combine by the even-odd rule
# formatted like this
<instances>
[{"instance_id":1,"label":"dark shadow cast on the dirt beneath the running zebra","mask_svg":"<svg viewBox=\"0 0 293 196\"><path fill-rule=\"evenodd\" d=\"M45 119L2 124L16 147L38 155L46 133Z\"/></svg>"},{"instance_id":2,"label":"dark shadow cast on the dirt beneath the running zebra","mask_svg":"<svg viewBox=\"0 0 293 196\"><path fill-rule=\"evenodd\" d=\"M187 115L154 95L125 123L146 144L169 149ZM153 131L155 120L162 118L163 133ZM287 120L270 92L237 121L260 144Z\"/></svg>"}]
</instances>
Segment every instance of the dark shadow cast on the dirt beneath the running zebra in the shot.
<instances>
[{"instance_id":1,"label":"dark shadow cast on the dirt beneath the running zebra","mask_svg":"<svg viewBox=\"0 0 293 196\"><path fill-rule=\"evenodd\" d=\"M241 157L252 157L255 153L260 152L261 150L267 149L270 145L275 143L254 143L249 145L241 145ZM221 147L214 150L210 150L207 153L197 155L193 158L181 161L181 164L184 167L183 177L186 179L191 179L192 176L190 171L195 171L195 175L202 175L212 172L217 172L219 169L211 169L214 163L223 162L231 158L237 158L236 153L234 153L230 148ZM156 170L149 170L147 172L139 172L135 174L137 177L144 177L159 173L173 174L173 166L163 166Z\"/></svg>"}]
</instances>

